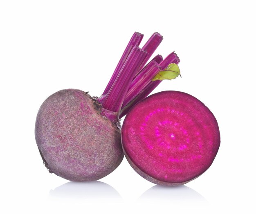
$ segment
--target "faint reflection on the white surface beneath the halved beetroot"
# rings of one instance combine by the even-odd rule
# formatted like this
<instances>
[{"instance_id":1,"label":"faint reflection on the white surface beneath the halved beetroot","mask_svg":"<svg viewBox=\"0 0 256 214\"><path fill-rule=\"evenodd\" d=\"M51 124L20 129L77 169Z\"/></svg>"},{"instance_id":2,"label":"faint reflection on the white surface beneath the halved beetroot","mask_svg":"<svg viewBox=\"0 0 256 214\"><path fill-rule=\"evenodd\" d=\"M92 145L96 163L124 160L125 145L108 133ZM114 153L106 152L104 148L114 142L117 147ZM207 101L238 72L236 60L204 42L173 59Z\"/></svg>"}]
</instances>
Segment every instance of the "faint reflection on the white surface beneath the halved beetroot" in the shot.
<instances>
[{"instance_id":1,"label":"faint reflection on the white surface beneath the halved beetroot","mask_svg":"<svg viewBox=\"0 0 256 214\"><path fill-rule=\"evenodd\" d=\"M207 200L195 190L180 185L176 187L166 187L155 185L146 190L139 199L142 200L154 200L154 201L175 201L175 202L207 202Z\"/></svg>"}]
</instances>

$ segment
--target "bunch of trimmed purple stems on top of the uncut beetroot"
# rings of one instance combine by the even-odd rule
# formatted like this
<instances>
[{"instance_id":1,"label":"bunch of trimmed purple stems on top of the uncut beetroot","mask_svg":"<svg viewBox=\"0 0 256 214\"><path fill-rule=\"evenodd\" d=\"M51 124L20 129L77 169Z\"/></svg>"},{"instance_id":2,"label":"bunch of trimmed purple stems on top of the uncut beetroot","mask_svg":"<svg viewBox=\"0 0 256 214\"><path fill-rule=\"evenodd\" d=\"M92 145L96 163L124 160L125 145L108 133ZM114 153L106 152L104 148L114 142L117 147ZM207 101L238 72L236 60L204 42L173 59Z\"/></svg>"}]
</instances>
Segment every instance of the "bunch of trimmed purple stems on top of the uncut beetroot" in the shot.
<instances>
[{"instance_id":1,"label":"bunch of trimmed purple stems on top of the uncut beetroot","mask_svg":"<svg viewBox=\"0 0 256 214\"><path fill-rule=\"evenodd\" d=\"M146 66L163 37L153 33L146 44L140 49L138 45L143 34L135 32L130 39L117 67L104 90L98 98L102 104L102 114L111 121L117 121L141 99L147 97L161 81L152 82L153 77L170 63L180 62L173 52L164 60L157 55Z\"/></svg>"}]
</instances>

